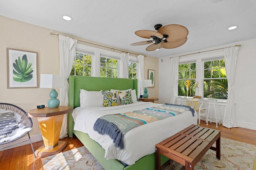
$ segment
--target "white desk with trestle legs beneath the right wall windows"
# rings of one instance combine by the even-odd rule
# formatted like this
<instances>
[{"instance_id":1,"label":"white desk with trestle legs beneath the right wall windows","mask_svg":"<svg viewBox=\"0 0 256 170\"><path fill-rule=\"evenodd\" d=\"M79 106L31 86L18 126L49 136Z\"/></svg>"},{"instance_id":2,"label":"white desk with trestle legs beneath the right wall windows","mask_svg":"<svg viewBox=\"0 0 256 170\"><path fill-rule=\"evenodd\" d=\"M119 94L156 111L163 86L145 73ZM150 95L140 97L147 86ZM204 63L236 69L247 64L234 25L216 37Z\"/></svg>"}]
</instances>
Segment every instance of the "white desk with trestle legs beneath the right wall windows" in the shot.
<instances>
[{"instance_id":1,"label":"white desk with trestle legs beneath the right wall windows","mask_svg":"<svg viewBox=\"0 0 256 170\"><path fill-rule=\"evenodd\" d=\"M186 101L185 99L194 99L193 97L185 97L185 96L178 96L178 97L175 97L176 98L176 104L179 104L179 105L186 105ZM220 121L220 118L218 118L218 113L220 112L220 109L219 109L219 105L218 105L218 100L219 99L214 99L214 98L200 98L199 100L201 101L205 101L205 102L208 102L208 109L207 109L207 116L206 116L206 125L208 125L208 121L210 122L216 122L216 127L218 127L218 122ZM215 117L212 117L210 116L209 117L209 112L210 112L210 107L211 105L213 106L213 109L214 109L214 116ZM215 105L217 106L217 111L216 111L216 107ZM215 118L215 121L212 120L213 118ZM219 123L220 125L220 123Z\"/></svg>"}]
</instances>

